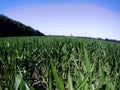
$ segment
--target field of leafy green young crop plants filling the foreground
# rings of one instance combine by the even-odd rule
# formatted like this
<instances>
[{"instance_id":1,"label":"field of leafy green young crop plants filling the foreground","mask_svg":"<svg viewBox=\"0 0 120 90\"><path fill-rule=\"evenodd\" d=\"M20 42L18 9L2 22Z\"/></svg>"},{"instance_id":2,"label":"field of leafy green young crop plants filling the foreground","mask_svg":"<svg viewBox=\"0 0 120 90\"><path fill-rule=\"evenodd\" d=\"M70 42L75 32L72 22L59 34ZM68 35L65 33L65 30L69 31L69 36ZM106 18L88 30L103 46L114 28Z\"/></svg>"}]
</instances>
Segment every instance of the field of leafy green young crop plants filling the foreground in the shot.
<instances>
[{"instance_id":1,"label":"field of leafy green young crop plants filling the foreground","mask_svg":"<svg viewBox=\"0 0 120 90\"><path fill-rule=\"evenodd\" d=\"M0 39L0 90L120 90L120 44L74 37Z\"/></svg>"}]
</instances>

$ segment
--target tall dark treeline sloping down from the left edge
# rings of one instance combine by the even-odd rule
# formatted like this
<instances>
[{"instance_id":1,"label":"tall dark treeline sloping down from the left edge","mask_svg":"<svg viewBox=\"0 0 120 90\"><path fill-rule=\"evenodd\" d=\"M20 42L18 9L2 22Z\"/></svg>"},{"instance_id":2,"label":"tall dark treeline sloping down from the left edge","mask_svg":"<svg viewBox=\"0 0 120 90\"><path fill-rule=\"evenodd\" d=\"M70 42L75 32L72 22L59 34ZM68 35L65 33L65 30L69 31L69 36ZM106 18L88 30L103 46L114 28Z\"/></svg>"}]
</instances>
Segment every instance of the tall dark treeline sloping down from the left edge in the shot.
<instances>
[{"instance_id":1,"label":"tall dark treeline sloping down from the left edge","mask_svg":"<svg viewBox=\"0 0 120 90\"><path fill-rule=\"evenodd\" d=\"M7 16L0 15L0 37L9 36L45 36L38 30L26 26L18 21L12 20Z\"/></svg>"}]
</instances>

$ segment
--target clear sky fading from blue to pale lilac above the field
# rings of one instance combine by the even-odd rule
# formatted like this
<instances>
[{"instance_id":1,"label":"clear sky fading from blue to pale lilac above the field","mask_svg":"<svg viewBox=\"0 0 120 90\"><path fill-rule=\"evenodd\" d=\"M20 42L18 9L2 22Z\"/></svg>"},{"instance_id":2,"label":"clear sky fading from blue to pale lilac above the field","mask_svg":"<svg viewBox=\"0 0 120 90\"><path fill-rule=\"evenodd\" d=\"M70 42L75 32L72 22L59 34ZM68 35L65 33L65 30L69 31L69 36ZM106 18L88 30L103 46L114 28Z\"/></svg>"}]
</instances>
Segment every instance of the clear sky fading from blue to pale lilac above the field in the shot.
<instances>
[{"instance_id":1,"label":"clear sky fading from blue to pale lilac above the field","mask_svg":"<svg viewBox=\"0 0 120 90\"><path fill-rule=\"evenodd\" d=\"M120 0L0 0L0 14L47 35L120 40Z\"/></svg>"}]
</instances>

